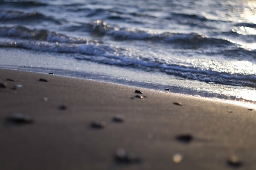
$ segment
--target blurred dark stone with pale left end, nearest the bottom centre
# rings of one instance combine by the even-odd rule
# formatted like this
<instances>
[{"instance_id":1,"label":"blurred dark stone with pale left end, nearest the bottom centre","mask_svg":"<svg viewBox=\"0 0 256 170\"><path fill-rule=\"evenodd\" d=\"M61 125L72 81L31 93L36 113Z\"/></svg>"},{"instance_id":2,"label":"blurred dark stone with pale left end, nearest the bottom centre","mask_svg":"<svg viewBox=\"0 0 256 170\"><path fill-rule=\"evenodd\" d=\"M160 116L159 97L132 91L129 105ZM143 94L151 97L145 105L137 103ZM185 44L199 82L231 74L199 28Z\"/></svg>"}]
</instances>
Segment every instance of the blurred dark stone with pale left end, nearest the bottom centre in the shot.
<instances>
[{"instance_id":1,"label":"blurred dark stone with pale left end, nearest the bottom centre","mask_svg":"<svg viewBox=\"0 0 256 170\"><path fill-rule=\"evenodd\" d=\"M134 153L128 153L124 149L119 149L116 151L116 161L119 163L131 164L139 163L140 158Z\"/></svg>"}]
</instances>

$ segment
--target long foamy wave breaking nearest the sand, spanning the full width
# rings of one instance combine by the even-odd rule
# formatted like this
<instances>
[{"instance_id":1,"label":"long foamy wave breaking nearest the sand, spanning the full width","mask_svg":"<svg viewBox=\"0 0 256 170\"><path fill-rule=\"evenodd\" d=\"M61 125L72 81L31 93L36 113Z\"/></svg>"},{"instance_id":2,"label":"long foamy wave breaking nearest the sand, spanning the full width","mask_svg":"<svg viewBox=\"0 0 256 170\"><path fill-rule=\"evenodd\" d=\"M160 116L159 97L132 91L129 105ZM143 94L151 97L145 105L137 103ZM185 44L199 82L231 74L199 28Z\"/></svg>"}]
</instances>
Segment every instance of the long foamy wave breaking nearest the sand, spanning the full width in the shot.
<instances>
[{"instance_id":1,"label":"long foamy wave breaking nearest the sand, spanning the full width","mask_svg":"<svg viewBox=\"0 0 256 170\"><path fill-rule=\"evenodd\" d=\"M130 49L119 48L108 44L93 42L87 42L86 44L68 44L41 41L1 41L0 47L72 53L72 56L76 59L90 60L108 65L127 66L146 71L157 70L165 72L166 74L173 74L178 77L204 82L215 82L224 85L249 86L256 88L255 74L236 74L215 71L211 68L201 68L196 65L179 65L179 62L143 57L143 55ZM200 60L198 60L198 65L201 65L199 62ZM216 66L215 63L214 66Z\"/></svg>"}]
</instances>

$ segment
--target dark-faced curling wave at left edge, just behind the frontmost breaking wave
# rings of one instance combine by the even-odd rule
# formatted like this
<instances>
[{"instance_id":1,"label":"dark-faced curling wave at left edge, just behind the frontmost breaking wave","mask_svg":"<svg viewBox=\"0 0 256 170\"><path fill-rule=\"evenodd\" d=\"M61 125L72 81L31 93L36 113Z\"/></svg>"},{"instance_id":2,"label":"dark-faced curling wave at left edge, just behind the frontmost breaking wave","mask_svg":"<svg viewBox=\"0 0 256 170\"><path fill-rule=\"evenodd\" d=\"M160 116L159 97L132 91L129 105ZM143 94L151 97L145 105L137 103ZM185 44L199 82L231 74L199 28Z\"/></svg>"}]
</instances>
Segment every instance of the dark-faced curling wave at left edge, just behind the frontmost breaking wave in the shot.
<instances>
[{"instance_id":1,"label":"dark-faced curling wave at left edge, just behind the frontmost breaking wave","mask_svg":"<svg viewBox=\"0 0 256 170\"><path fill-rule=\"evenodd\" d=\"M23 26L0 27L1 37L10 37L28 40L40 40L47 42L65 42L65 43L87 43L98 42L87 38L69 37L54 31L43 29L30 29Z\"/></svg>"}]
</instances>

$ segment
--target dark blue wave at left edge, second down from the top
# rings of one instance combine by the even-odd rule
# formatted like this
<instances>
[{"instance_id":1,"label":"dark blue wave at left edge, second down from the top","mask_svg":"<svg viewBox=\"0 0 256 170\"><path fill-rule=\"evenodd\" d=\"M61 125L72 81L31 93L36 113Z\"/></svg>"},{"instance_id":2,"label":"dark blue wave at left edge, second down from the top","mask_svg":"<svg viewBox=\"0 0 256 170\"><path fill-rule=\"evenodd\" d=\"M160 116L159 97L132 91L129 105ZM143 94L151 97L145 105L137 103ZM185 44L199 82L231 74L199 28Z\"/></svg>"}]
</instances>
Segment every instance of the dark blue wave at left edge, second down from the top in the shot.
<instances>
[{"instance_id":1,"label":"dark blue wave at left edge, second down from the top","mask_svg":"<svg viewBox=\"0 0 256 170\"><path fill-rule=\"evenodd\" d=\"M25 22L27 20L32 21L51 21L56 24L62 24L62 21L55 19L54 17L45 16L38 12L25 13L22 11L0 11L0 21L15 20L18 22Z\"/></svg>"}]
</instances>

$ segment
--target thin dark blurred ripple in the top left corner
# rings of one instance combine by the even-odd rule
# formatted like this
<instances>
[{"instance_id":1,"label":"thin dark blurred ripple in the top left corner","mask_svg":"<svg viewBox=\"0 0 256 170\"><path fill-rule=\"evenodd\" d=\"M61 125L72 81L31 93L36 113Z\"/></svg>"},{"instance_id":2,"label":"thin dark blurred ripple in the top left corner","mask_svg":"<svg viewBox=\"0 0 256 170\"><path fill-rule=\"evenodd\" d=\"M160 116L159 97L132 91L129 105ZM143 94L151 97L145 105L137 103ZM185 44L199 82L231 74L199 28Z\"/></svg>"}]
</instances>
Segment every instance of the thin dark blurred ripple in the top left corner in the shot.
<instances>
[{"instance_id":1,"label":"thin dark blurred ripple in the top left corner","mask_svg":"<svg viewBox=\"0 0 256 170\"><path fill-rule=\"evenodd\" d=\"M42 3L39 1L6 1L0 0L0 5L10 5L17 7L37 7L37 6L47 6L47 3Z\"/></svg>"}]
</instances>

